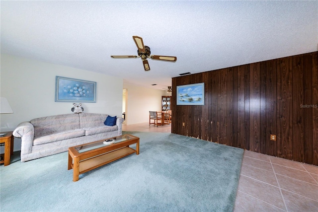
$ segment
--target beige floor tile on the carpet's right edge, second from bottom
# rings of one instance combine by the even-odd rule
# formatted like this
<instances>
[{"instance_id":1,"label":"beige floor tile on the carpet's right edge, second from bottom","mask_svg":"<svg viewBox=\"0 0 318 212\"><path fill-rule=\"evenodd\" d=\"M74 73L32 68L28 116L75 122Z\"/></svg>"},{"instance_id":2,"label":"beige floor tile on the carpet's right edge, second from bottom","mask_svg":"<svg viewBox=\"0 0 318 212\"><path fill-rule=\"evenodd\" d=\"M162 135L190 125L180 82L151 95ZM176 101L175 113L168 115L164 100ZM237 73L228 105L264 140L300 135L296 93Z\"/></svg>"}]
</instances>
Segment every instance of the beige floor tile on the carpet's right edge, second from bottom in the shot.
<instances>
[{"instance_id":1,"label":"beige floor tile on the carpet's right edge, second from bottom","mask_svg":"<svg viewBox=\"0 0 318 212\"><path fill-rule=\"evenodd\" d=\"M240 175L238 191L285 210L279 188L275 186Z\"/></svg>"}]
</instances>

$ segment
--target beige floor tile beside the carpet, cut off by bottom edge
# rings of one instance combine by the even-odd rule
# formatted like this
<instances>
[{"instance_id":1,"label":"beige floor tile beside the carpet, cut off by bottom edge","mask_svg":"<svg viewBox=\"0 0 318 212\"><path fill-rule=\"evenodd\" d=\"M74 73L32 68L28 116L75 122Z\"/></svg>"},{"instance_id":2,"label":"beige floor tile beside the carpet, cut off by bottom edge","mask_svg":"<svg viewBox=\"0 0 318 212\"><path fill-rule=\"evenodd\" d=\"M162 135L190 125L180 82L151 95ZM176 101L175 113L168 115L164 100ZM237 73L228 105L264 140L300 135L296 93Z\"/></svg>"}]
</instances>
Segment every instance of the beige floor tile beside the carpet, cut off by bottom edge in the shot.
<instances>
[{"instance_id":1,"label":"beige floor tile beside the carpet, cut off by bottom edge","mask_svg":"<svg viewBox=\"0 0 318 212\"><path fill-rule=\"evenodd\" d=\"M273 205L260 201L242 192L237 193L234 212L284 212Z\"/></svg>"}]
</instances>

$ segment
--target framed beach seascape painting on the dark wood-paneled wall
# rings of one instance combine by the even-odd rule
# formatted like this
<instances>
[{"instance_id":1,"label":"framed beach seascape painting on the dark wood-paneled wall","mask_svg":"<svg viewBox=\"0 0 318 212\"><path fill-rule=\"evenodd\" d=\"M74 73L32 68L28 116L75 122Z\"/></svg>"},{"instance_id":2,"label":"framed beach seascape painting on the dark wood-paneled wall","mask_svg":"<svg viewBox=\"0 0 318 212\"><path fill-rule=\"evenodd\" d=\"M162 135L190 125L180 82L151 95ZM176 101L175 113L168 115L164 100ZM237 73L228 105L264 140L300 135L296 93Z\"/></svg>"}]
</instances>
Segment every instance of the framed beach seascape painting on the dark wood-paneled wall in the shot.
<instances>
[{"instance_id":1,"label":"framed beach seascape painting on the dark wood-paneled wall","mask_svg":"<svg viewBox=\"0 0 318 212\"><path fill-rule=\"evenodd\" d=\"M177 86L177 105L204 105L204 82Z\"/></svg>"}]
</instances>

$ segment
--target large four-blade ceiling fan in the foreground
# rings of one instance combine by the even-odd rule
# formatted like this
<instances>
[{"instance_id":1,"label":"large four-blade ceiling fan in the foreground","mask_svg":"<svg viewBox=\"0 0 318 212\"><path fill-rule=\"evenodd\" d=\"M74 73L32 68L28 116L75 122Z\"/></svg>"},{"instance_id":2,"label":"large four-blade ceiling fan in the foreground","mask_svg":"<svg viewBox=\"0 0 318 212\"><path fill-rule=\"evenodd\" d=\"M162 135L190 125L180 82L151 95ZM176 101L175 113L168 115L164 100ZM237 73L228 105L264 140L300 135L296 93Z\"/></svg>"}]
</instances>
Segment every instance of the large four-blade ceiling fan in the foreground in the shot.
<instances>
[{"instance_id":1,"label":"large four-blade ceiling fan in the foreground","mask_svg":"<svg viewBox=\"0 0 318 212\"><path fill-rule=\"evenodd\" d=\"M177 60L177 57L171 57L171 56L160 56L160 55L150 55L150 48L148 46L144 45L143 39L138 36L133 36L133 39L136 43L136 46L138 48L137 53L138 56L136 55L122 55L122 56L110 56L112 58L141 58L144 64L144 69L145 71L150 71L150 67L147 61L147 58L151 58L153 60L160 60L160 61L170 61L170 62L175 62Z\"/></svg>"}]
</instances>

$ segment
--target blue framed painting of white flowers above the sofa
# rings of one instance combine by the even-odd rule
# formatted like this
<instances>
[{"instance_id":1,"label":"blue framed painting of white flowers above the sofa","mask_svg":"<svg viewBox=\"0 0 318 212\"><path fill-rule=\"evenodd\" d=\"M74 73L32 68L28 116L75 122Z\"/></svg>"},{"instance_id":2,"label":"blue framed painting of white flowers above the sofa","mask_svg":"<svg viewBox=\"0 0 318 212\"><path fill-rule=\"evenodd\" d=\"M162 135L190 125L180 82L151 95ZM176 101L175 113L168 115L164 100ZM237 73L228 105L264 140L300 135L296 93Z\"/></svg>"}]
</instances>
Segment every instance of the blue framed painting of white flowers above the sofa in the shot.
<instances>
[{"instance_id":1,"label":"blue framed painting of white flowers above the sofa","mask_svg":"<svg viewBox=\"0 0 318 212\"><path fill-rule=\"evenodd\" d=\"M96 102L96 82L56 76L56 102Z\"/></svg>"}]
</instances>

